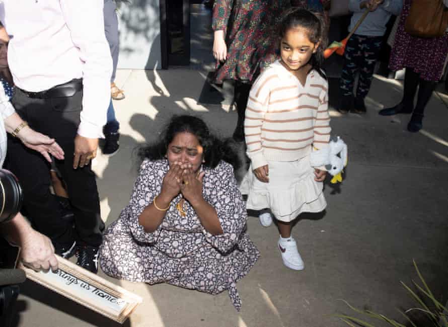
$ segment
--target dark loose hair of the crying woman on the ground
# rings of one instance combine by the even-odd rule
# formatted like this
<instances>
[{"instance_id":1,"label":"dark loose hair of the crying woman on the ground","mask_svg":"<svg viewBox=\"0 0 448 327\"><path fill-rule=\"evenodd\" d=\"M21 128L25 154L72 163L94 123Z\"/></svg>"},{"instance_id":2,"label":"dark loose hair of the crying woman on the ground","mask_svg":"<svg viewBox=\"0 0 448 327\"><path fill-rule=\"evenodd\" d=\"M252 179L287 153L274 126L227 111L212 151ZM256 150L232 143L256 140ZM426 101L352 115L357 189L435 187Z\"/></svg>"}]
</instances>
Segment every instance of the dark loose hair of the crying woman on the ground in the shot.
<instances>
[{"instance_id":1,"label":"dark loose hair of the crying woman on the ground","mask_svg":"<svg viewBox=\"0 0 448 327\"><path fill-rule=\"evenodd\" d=\"M205 167L215 168L220 160L229 162L234 170L241 168L243 163L232 146L232 140L222 142L216 136L210 133L205 122L195 116L181 115L173 116L164 128L161 138L156 143L141 147L138 150L139 157L143 160L158 160L165 157L168 145L179 133L191 133L197 137L199 144L204 149Z\"/></svg>"}]
</instances>

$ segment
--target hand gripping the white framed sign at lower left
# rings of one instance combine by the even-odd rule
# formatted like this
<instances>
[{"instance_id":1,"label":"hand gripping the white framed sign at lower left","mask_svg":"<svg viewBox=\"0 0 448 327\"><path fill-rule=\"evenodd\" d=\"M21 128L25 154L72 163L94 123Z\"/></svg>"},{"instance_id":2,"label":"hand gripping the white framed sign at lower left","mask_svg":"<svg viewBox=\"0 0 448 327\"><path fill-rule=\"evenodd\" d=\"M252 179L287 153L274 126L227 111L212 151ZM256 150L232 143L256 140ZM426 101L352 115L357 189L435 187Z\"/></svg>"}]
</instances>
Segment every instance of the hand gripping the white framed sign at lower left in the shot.
<instances>
[{"instance_id":1,"label":"hand gripping the white framed sign at lower left","mask_svg":"<svg viewBox=\"0 0 448 327\"><path fill-rule=\"evenodd\" d=\"M54 247L51 240L32 229L32 231L23 239L21 244L20 257L23 264L36 271L57 270L57 259L54 255Z\"/></svg>"}]
</instances>

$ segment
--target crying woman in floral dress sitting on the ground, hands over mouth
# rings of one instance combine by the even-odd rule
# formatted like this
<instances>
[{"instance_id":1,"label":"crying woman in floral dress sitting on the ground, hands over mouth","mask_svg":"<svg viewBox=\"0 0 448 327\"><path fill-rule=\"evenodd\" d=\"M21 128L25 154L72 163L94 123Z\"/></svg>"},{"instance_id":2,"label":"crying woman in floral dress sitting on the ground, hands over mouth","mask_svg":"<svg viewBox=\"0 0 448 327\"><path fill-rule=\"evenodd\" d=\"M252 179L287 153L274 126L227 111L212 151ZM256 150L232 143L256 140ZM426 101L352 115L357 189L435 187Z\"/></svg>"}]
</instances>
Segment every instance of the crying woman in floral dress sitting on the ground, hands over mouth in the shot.
<instances>
[{"instance_id":1,"label":"crying woman in floral dress sitting on the ground, hands over mouth","mask_svg":"<svg viewBox=\"0 0 448 327\"><path fill-rule=\"evenodd\" d=\"M166 282L210 294L229 290L259 257L246 233L247 213L235 157L199 118L173 117L144 159L129 204L104 234L103 271L150 284ZM232 160L228 160L232 161Z\"/></svg>"}]
</instances>

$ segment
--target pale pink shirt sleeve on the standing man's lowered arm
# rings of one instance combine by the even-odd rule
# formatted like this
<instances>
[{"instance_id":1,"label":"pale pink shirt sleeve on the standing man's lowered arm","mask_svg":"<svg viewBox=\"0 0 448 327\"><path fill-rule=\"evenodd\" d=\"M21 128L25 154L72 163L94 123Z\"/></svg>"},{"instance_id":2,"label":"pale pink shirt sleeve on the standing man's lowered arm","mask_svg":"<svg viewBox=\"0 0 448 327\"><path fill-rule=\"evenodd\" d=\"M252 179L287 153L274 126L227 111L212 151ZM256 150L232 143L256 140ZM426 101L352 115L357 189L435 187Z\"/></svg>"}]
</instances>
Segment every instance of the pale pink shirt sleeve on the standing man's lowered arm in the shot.
<instances>
[{"instance_id":1,"label":"pale pink shirt sleeve on the standing man's lowered arm","mask_svg":"<svg viewBox=\"0 0 448 327\"><path fill-rule=\"evenodd\" d=\"M112 57L104 33L103 0L60 0L73 44L83 62L83 110L78 134L103 135L110 102Z\"/></svg>"}]
</instances>

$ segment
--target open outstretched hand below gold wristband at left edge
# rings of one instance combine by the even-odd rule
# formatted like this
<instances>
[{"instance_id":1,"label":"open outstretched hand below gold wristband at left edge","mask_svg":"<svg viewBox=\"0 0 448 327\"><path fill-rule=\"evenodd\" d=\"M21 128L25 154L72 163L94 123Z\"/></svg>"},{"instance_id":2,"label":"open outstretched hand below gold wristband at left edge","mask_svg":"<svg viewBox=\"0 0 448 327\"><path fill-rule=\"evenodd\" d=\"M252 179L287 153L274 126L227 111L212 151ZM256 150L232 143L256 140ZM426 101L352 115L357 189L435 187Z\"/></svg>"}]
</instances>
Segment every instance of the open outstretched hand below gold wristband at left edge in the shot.
<instances>
[{"instance_id":1,"label":"open outstretched hand below gold wristband at left edge","mask_svg":"<svg viewBox=\"0 0 448 327\"><path fill-rule=\"evenodd\" d=\"M49 154L52 154L56 159L62 160L64 158L64 151L59 144L53 138L38 133L26 126L17 134L17 137L23 142L23 144L40 154L42 154L48 162L51 162Z\"/></svg>"}]
</instances>

